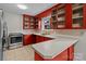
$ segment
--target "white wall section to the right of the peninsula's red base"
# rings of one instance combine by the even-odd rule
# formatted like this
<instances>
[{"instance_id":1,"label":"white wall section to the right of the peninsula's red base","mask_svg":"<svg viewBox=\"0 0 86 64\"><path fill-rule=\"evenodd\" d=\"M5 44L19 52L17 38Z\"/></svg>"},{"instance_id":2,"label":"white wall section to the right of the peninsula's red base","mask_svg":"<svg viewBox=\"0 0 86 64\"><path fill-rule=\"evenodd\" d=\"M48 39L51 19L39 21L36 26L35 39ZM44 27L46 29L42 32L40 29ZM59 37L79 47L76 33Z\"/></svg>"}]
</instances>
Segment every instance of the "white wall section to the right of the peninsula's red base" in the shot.
<instances>
[{"instance_id":1,"label":"white wall section to the right of the peninsula's red base","mask_svg":"<svg viewBox=\"0 0 86 64\"><path fill-rule=\"evenodd\" d=\"M86 61L86 31L75 44L75 59Z\"/></svg>"}]
</instances>

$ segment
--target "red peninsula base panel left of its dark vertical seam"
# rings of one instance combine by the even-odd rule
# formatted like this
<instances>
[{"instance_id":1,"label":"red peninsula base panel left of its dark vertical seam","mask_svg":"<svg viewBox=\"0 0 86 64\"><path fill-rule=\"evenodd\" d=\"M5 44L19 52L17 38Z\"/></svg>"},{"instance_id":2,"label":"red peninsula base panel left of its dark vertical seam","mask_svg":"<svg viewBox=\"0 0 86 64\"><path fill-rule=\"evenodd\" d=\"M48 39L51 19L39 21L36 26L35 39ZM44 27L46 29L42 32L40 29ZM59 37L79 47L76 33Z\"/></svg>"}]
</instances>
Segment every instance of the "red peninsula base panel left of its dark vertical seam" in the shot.
<instances>
[{"instance_id":1,"label":"red peninsula base panel left of its dark vertical seam","mask_svg":"<svg viewBox=\"0 0 86 64\"><path fill-rule=\"evenodd\" d=\"M35 61L67 61L67 50L63 51L53 59L44 59L37 52L35 52Z\"/></svg>"}]
</instances>

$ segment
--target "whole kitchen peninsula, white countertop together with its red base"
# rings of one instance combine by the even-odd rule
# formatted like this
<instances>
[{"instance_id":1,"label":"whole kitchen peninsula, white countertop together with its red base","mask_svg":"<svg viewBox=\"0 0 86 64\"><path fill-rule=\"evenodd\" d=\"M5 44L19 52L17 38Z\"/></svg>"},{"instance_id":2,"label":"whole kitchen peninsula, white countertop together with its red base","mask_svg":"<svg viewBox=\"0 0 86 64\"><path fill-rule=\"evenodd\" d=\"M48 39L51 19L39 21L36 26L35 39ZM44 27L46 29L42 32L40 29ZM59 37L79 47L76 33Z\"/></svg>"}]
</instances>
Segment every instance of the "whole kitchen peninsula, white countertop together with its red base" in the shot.
<instances>
[{"instance_id":1,"label":"whole kitchen peninsula, white countertop together with its red base","mask_svg":"<svg viewBox=\"0 0 86 64\"><path fill-rule=\"evenodd\" d=\"M65 35L39 35L39 36L52 39L32 44L33 49L35 50L36 61L73 60L74 43L78 41L77 37L65 36Z\"/></svg>"}]
</instances>

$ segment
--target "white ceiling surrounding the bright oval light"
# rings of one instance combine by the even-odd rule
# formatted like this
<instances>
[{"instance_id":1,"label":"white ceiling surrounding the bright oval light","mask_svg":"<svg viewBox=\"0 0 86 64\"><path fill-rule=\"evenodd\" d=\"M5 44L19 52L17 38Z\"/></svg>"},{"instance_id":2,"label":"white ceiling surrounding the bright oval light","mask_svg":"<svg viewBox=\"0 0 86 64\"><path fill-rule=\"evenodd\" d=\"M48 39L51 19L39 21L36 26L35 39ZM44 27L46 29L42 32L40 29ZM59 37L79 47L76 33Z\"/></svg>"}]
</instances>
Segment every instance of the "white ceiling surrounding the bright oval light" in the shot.
<instances>
[{"instance_id":1,"label":"white ceiling surrounding the bright oval light","mask_svg":"<svg viewBox=\"0 0 86 64\"><path fill-rule=\"evenodd\" d=\"M16 5L20 3L0 3L0 9L10 13L36 15L45 10L56 5L56 3L23 3L28 9L21 10Z\"/></svg>"}]
</instances>

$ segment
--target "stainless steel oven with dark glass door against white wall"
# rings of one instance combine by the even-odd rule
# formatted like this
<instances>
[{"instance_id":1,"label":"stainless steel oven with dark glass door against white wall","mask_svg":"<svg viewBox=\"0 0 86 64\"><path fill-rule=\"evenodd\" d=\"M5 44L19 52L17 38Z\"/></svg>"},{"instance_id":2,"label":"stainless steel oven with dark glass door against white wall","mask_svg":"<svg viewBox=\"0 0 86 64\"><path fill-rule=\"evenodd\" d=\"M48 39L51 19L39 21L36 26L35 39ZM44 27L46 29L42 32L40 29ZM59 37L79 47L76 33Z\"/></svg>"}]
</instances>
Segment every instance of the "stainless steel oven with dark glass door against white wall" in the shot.
<instances>
[{"instance_id":1,"label":"stainless steel oven with dark glass door against white wall","mask_svg":"<svg viewBox=\"0 0 86 64\"><path fill-rule=\"evenodd\" d=\"M23 35L20 33L12 33L9 35L9 49L23 46Z\"/></svg>"}]
</instances>

